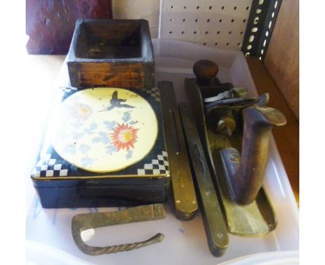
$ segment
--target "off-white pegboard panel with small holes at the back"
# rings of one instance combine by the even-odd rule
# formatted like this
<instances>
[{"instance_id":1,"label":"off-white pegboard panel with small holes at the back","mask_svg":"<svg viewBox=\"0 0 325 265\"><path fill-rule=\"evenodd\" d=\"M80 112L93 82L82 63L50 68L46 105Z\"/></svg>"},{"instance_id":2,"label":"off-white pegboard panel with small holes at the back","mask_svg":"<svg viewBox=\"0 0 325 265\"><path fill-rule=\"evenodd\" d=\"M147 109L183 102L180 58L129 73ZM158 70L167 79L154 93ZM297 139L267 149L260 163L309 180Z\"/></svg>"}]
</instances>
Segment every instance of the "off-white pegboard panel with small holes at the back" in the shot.
<instances>
[{"instance_id":1,"label":"off-white pegboard panel with small holes at the back","mask_svg":"<svg viewBox=\"0 0 325 265\"><path fill-rule=\"evenodd\" d=\"M253 0L161 0L160 38L240 51Z\"/></svg>"}]
</instances>

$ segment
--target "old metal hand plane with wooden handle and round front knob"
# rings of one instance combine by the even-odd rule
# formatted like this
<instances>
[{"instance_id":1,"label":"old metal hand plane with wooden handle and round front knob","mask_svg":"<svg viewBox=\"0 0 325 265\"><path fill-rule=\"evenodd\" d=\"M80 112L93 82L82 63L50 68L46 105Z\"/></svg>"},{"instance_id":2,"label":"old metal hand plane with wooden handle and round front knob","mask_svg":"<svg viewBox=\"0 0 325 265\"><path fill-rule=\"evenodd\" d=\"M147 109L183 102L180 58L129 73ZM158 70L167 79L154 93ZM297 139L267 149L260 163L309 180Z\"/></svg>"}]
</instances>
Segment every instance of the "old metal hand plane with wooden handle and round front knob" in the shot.
<instances>
[{"instance_id":1,"label":"old metal hand plane with wooden handle and round front knob","mask_svg":"<svg viewBox=\"0 0 325 265\"><path fill-rule=\"evenodd\" d=\"M197 78L185 78L194 120L222 200L228 232L259 236L276 228L276 216L262 187L273 126L286 123L267 107L269 95L249 98L247 89L221 83L210 60L194 64Z\"/></svg>"}]
</instances>

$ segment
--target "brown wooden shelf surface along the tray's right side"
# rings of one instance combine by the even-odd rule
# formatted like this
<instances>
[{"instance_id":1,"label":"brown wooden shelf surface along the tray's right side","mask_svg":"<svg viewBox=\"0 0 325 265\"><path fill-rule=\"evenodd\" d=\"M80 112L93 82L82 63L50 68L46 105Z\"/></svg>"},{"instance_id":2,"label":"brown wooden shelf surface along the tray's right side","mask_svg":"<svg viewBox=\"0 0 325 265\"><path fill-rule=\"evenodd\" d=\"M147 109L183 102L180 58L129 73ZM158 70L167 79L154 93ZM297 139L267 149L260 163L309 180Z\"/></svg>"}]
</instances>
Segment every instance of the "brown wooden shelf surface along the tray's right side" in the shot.
<instances>
[{"instance_id":1,"label":"brown wooden shelf surface along the tray's right side","mask_svg":"<svg viewBox=\"0 0 325 265\"><path fill-rule=\"evenodd\" d=\"M280 110L287 119L285 126L274 128L272 132L294 196L299 203L299 123L263 63L255 57L248 57L247 62L258 94L269 92L268 105Z\"/></svg>"}]
</instances>

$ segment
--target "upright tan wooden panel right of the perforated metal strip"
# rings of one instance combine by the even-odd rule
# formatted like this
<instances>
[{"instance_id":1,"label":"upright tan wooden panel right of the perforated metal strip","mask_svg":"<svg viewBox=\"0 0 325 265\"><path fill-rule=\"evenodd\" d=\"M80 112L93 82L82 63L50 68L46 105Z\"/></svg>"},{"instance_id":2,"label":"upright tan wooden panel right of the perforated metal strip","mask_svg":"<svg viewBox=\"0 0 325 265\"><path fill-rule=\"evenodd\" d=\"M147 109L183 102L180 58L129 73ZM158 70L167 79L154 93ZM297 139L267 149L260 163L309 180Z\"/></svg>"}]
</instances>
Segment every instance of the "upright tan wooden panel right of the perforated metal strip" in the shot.
<instances>
[{"instance_id":1,"label":"upright tan wooden panel right of the perforated metal strip","mask_svg":"<svg viewBox=\"0 0 325 265\"><path fill-rule=\"evenodd\" d=\"M299 120L299 0L282 1L264 63Z\"/></svg>"}]
</instances>

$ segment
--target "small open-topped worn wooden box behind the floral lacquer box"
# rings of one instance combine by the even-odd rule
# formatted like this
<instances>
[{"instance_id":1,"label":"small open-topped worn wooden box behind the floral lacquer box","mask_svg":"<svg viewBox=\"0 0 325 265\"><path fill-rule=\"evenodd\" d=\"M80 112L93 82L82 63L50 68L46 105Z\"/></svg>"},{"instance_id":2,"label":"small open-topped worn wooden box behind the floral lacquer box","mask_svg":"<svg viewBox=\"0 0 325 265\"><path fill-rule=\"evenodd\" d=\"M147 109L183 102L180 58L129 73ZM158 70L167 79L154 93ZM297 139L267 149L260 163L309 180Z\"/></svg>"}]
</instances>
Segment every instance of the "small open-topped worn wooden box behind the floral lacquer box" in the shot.
<instances>
[{"instance_id":1,"label":"small open-topped worn wooden box behind the floral lacquer box","mask_svg":"<svg viewBox=\"0 0 325 265\"><path fill-rule=\"evenodd\" d=\"M147 20L77 19L67 66L72 87L153 87Z\"/></svg>"}]
</instances>

